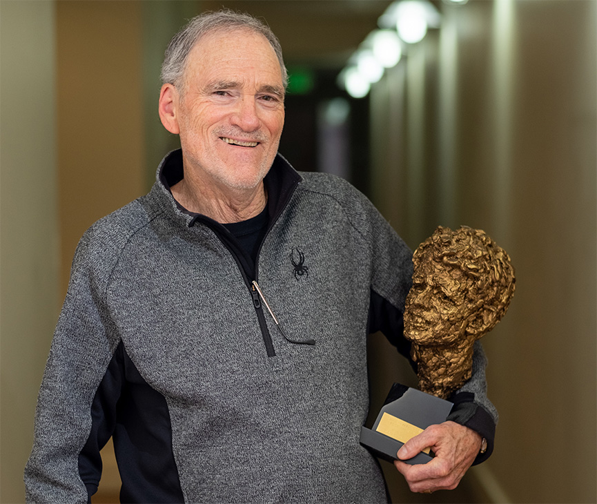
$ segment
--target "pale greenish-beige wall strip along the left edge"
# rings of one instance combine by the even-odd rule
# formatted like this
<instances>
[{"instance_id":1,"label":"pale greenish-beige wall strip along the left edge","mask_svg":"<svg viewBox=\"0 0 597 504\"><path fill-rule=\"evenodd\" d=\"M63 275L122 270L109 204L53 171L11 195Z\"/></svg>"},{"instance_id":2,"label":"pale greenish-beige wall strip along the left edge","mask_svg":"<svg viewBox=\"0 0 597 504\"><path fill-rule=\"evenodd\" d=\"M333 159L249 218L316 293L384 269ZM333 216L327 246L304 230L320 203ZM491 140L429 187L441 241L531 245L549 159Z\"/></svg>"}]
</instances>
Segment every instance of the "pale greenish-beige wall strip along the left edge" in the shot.
<instances>
[{"instance_id":1,"label":"pale greenish-beige wall strip along the left edge","mask_svg":"<svg viewBox=\"0 0 597 504\"><path fill-rule=\"evenodd\" d=\"M60 307L52 3L0 2L0 502L23 499Z\"/></svg>"}]
</instances>

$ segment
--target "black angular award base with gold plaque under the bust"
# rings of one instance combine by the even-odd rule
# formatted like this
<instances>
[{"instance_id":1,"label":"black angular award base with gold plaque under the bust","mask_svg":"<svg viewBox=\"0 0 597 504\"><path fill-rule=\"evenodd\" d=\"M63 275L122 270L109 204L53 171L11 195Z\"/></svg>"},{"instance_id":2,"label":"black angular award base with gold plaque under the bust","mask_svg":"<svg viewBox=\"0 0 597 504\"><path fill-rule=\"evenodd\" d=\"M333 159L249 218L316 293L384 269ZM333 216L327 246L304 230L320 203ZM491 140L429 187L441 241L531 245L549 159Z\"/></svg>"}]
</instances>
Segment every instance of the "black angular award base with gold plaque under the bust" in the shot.
<instances>
[{"instance_id":1,"label":"black angular award base with gold plaque under the bust","mask_svg":"<svg viewBox=\"0 0 597 504\"><path fill-rule=\"evenodd\" d=\"M452 406L448 400L394 383L373 427L361 427L360 443L386 461L398 460L398 449L429 425L444 422ZM432 458L427 449L404 462L426 464Z\"/></svg>"}]
</instances>

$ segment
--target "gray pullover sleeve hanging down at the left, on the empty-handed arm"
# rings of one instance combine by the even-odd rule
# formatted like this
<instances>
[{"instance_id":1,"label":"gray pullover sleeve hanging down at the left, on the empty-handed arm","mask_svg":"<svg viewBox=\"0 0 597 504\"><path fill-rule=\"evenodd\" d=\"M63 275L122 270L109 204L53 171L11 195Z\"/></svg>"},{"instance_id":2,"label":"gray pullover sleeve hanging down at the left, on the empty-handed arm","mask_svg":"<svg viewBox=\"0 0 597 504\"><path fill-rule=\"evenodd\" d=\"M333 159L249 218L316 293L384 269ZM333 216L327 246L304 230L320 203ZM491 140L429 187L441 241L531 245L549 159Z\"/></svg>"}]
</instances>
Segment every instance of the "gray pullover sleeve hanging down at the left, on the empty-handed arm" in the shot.
<instances>
[{"instance_id":1,"label":"gray pullover sleeve hanging down at the left, on the empty-handed arm","mask_svg":"<svg viewBox=\"0 0 597 504\"><path fill-rule=\"evenodd\" d=\"M92 432L94 396L118 345L106 302L106 271L114 254L108 246L93 251L90 234L77 247L39 391L34 445L24 476L28 503L88 502L79 456ZM84 462L84 473L97 484L101 461L89 448L88 460L95 462Z\"/></svg>"}]
</instances>

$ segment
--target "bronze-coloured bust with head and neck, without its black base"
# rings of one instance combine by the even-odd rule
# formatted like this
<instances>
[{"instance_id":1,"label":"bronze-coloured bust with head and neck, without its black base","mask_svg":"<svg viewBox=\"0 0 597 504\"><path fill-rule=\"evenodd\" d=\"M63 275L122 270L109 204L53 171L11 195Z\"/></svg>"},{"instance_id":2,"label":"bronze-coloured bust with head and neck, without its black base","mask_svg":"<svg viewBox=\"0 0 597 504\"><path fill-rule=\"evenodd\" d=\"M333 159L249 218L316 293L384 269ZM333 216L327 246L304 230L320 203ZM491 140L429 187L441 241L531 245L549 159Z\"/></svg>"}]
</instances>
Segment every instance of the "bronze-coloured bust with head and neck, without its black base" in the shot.
<instances>
[{"instance_id":1,"label":"bronze-coloured bust with head and neck, without its black base","mask_svg":"<svg viewBox=\"0 0 597 504\"><path fill-rule=\"evenodd\" d=\"M404 311L419 387L447 398L471 376L473 343L491 331L515 289L508 254L485 231L438 227L413 255Z\"/></svg>"}]
</instances>

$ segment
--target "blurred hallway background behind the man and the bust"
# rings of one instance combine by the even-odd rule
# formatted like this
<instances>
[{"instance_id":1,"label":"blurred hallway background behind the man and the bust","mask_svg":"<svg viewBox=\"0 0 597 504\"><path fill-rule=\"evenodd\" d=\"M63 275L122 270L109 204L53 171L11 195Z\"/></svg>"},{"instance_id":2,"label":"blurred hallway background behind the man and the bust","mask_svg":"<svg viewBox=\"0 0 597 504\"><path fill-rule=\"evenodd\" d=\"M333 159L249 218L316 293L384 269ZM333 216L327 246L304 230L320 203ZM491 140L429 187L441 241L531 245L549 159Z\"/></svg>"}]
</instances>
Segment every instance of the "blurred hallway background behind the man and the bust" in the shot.
<instances>
[{"instance_id":1,"label":"blurred hallway background behind the man and the bust","mask_svg":"<svg viewBox=\"0 0 597 504\"><path fill-rule=\"evenodd\" d=\"M597 501L597 2L425 5L427 26L407 23L424 37L363 81L355 52L395 31L391 1L0 1L2 503L24 501L77 241L146 193L177 146L157 115L164 48L185 19L221 6L280 37L291 72L280 151L297 170L351 180L413 248L466 224L516 267L509 312L484 338L493 456L431 496L383 463L393 501ZM375 413L392 382L416 383L388 346L371 337ZM96 503L117 502L105 452Z\"/></svg>"}]
</instances>

